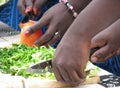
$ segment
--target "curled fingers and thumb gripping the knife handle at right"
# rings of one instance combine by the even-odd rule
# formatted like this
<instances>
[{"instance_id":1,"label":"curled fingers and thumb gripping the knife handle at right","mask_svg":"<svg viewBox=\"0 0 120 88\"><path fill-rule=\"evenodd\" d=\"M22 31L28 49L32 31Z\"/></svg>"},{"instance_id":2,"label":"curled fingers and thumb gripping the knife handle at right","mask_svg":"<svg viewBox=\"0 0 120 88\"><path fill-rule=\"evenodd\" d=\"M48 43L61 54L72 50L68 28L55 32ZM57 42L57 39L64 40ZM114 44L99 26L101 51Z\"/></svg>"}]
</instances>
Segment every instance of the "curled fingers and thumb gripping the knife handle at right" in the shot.
<instances>
[{"instance_id":1,"label":"curled fingers and thumb gripping the knife handle at right","mask_svg":"<svg viewBox=\"0 0 120 88\"><path fill-rule=\"evenodd\" d=\"M116 49L109 41L109 37L105 34L106 31L102 31L97 34L91 41L91 48L99 47L99 49L91 56L92 62L104 62L109 57L116 54Z\"/></svg>"}]
</instances>

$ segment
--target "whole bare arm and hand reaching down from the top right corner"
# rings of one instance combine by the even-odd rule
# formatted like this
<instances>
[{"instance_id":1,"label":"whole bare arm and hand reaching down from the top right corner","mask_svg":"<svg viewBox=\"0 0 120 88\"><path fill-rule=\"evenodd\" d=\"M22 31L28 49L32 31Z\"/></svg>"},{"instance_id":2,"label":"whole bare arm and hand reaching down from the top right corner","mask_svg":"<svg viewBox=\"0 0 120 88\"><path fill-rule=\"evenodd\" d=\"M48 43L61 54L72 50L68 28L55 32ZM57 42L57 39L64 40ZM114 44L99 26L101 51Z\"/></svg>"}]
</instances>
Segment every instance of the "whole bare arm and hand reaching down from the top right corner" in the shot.
<instances>
[{"instance_id":1,"label":"whole bare arm and hand reaching down from the top right corner","mask_svg":"<svg viewBox=\"0 0 120 88\"><path fill-rule=\"evenodd\" d=\"M56 48L53 71L58 81L84 81L91 40L120 17L119 8L119 0L93 0L82 10Z\"/></svg>"}]
</instances>

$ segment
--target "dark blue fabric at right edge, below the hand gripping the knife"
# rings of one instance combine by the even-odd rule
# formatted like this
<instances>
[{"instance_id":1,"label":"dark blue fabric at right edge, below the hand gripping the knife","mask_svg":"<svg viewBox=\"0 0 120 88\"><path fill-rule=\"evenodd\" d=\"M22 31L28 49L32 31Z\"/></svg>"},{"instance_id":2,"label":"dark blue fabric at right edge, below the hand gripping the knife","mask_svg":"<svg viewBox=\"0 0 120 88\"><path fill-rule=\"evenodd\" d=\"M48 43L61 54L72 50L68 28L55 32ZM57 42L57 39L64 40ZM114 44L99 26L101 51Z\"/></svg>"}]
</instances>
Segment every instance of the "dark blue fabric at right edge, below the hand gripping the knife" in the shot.
<instances>
[{"instance_id":1,"label":"dark blue fabric at right edge, below the hand gripping the knife","mask_svg":"<svg viewBox=\"0 0 120 88\"><path fill-rule=\"evenodd\" d=\"M98 67L120 76L120 55L109 58L104 63L94 63Z\"/></svg>"}]
</instances>

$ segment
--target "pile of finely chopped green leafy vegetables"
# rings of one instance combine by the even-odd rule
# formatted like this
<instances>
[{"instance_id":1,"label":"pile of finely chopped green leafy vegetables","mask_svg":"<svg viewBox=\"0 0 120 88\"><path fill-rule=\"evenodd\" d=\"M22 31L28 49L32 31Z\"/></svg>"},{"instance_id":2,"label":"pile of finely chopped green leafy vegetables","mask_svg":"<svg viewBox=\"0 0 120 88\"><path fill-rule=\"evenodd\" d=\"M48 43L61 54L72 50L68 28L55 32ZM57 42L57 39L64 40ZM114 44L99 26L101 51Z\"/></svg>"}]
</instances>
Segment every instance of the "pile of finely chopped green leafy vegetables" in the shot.
<instances>
[{"instance_id":1,"label":"pile of finely chopped green leafy vegetables","mask_svg":"<svg viewBox=\"0 0 120 88\"><path fill-rule=\"evenodd\" d=\"M0 72L28 77L54 78L53 73L35 74L26 72L30 66L42 60L50 60L55 49L52 47L29 47L23 44L13 44L12 48L0 48ZM52 75L52 76L51 76Z\"/></svg>"}]
</instances>

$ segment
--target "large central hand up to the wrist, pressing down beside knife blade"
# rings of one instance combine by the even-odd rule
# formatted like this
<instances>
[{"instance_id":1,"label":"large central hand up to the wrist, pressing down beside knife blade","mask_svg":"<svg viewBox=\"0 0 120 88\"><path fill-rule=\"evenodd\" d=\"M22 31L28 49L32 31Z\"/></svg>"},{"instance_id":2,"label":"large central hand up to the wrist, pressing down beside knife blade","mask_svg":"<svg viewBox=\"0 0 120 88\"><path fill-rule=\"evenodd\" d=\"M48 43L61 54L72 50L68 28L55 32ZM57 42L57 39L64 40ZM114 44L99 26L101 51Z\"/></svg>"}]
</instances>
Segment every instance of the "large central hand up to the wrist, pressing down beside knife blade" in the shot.
<instances>
[{"instance_id":1,"label":"large central hand up to the wrist, pressing down beside knife blade","mask_svg":"<svg viewBox=\"0 0 120 88\"><path fill-rule=\"evenodd\" d=\"M57 46L52 60L53 71L58 81L79 84L87 75L84 69L89 57L90 42L68 31Z\"/></svg>"}]
</instances>

